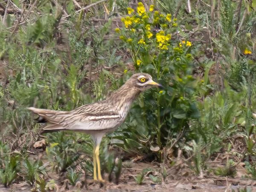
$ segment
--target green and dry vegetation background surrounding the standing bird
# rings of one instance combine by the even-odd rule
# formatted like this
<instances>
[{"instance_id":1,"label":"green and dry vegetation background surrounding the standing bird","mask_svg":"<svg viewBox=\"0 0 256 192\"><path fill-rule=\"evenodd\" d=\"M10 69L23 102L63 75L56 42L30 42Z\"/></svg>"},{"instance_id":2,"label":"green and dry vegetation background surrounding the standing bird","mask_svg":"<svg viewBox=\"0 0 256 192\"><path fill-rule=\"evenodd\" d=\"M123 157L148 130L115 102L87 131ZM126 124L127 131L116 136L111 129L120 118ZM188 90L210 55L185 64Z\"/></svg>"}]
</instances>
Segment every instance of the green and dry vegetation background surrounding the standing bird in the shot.
<instances>
[{"instance_id":1,"label":"green and dry vegetation background surrounding the standing bird","mask_svg":"<svg viewBox=\"0 0 256 192\"><path fill-rule=\"evenodd\" d=\"M165 89L103 140L113 187L256 180L256 0L2 0L0 18L3 186L92 189L90 137L40 136L26 107L72 110L136 72Z\"/></svg>"}]
</instances>

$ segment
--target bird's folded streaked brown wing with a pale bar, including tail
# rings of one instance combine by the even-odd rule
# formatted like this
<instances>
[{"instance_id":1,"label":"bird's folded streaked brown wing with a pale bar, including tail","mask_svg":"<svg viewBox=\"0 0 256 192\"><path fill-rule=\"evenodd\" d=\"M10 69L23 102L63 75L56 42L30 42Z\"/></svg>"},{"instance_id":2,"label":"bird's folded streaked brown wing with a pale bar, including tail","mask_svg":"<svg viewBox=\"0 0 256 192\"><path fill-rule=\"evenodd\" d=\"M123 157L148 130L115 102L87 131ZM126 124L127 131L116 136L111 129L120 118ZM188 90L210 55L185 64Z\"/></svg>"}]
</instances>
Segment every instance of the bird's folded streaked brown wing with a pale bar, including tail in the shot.
<instances>
[{"instance_id":1,"label":"bird's folded streaked brown wing with a pale bar, including tail","mask_svg":"<svg viewBox=\"0 0 256 192\"><path fill-rule=\"evenodd\" d=\"M105 130L118 126L122 121L117 109L103 102L84 105L73 111L28 109L41 116L38 118L41 122L51 123L43 128L44 132Z\"/></svg>"}]
</instances>

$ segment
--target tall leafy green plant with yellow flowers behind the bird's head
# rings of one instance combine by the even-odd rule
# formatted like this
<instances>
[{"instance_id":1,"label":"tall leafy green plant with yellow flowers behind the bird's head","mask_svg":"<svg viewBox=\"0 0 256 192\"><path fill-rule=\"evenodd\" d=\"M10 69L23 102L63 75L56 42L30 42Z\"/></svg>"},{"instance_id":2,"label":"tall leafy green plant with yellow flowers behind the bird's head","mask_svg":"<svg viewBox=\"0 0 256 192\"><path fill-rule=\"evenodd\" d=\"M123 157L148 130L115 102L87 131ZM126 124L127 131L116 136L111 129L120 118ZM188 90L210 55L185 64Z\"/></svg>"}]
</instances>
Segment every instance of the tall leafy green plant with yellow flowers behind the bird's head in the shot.
<instances>
[{"instance_id":1,"label":"tall leafy green plant with yellow flowers behind the bird's head","mask_svg":"<svg viewBox=\"0 0 256 192\"><path fill-rule=\"evenodd\" d=\"M172 39L179 27L171 14L154 11L154 6L146 12L143 3L138 3L137 13L127 10L129 16L122 18L124 26L116 32L129 49L136 71L152 74L166 89L141 96L122 137L114 138L123 141L125 150L148 153L152 145L159 149L166 145L166 135L187 130L189 121L200 116L193 97L197 82L192 76L193 44L185 36Z\"/></svg>"}]
</instances>

